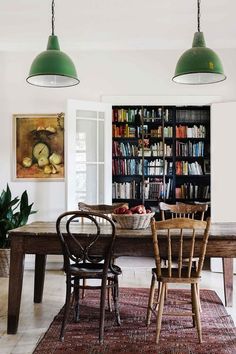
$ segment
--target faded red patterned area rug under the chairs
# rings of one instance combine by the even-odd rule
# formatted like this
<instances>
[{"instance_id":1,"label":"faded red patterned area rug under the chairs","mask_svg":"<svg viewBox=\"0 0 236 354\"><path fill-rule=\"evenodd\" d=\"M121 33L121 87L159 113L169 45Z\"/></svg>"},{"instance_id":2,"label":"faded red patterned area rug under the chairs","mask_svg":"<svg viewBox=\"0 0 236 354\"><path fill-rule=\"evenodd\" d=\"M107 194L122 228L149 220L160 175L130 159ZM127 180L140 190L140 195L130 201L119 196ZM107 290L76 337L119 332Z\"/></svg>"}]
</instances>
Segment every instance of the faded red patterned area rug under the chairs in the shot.
<instances>
[{"instance_id":1,"label":"faded red patterned area rug under the chairs","mask_svg":"<svg viewBox=\"0 0 236 354\"><path fill-rule=\"evenodd\" d=\"M145 326L148 289L120 289L120 315L118 327L114 314L106 312L104 344L98 343L99 301L96 294L87 292L81 302L81 322L73 323L72 315L66 327L64 342L59 341L62 310L54 318L48 331L37 345L34 354L224 354L236 353L236 329L232 318L214 291L201 290L203 343L198 343L191 317L163 316L158 345L154 343L155 318L149 328ZM190 292L169 290L165 311L173 311L180 299L181 311L190 309ZM175 308L176 311L176 308Z\"/></svg>"}]
</instances>

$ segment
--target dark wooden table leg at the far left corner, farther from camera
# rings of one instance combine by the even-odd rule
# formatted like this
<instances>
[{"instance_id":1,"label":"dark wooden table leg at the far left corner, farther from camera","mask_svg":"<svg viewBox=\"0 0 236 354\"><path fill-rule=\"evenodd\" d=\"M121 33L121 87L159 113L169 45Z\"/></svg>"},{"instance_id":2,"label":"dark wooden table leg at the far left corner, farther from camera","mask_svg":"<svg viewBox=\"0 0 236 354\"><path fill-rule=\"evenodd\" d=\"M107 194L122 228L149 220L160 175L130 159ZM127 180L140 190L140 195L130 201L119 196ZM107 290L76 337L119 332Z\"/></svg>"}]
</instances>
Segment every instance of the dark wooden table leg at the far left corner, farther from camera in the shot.
<instances>
[{"instance_id":1,"label":"dark wooden table leg at the far left corner, farther from camera","mask_svg":"<svg viewBox=\"0 0 236 354\"><path fill-rule=\"evenodd\" d=\"M47 256L45 254L35 255L35 273L34 273L34 302L35 303L42 302L46 259Z\"/></svg>"}]
</instances>

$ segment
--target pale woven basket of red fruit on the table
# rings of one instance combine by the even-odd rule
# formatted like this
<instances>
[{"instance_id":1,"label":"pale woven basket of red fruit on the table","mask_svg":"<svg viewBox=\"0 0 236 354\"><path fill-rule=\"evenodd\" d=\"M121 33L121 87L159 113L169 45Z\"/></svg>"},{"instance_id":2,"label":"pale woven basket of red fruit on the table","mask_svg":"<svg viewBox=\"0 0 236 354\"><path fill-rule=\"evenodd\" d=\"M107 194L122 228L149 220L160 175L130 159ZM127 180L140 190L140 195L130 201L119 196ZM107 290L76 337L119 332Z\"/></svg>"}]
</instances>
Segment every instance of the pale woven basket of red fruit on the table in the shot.
<instances>
[{"instance_id":1,"label":"pale woven basket of red fruit on the table","mask_svg":"<svg viewBox=\"0 0 236 354\"><path fill-rule=\"evenodd\" d=\"M150 225L151 218L155 215L144 205L137 205L129 209L128 206L122 206L113 211L112 219L122 229L146 229Z\"/></svg>"}]
</instances>

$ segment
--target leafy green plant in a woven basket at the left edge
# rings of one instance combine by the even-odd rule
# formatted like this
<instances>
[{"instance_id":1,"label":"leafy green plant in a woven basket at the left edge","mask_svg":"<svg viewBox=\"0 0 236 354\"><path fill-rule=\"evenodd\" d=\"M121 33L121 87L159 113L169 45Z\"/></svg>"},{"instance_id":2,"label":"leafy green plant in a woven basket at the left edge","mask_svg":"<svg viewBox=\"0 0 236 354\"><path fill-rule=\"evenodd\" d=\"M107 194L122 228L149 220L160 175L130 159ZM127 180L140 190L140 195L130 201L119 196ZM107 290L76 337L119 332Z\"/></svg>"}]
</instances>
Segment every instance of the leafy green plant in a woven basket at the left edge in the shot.
<instances>
[{"instance_id":1,"label":"leafy green plant in a woven basket at the left edge","mask_svg":"<svg viewBox=\"0 0 236 354\"><path fill-rule=\"evenodd\" d=\"M36 213L32 210L32 206L33 203L28 203L26 190L21 197L12 198L7 184L6 190L3 190L0 195L0 276L7 276L8 273L10 254L8 232L27 223L29 215Z\"/></svg>"}]
</instances>

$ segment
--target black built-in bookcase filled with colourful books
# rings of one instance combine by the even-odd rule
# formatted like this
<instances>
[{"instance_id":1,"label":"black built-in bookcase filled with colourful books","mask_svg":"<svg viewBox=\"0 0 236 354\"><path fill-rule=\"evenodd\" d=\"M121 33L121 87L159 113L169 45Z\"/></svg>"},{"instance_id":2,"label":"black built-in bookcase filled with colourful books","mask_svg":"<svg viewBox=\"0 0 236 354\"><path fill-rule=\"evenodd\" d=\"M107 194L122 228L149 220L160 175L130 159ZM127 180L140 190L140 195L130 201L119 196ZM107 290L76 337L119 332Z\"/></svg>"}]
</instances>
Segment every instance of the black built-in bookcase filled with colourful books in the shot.
<instances>
[{"instance_id":1,"label":"black built-in bookcase filled with colourful books","mask_svg":"<svg viewBox=\"0 0 236 354\"><path fill-rule=\"evenodd\" d=\"M113 106L113 202L210 201L209 106Z\"/></svg>"}]
</instances>

